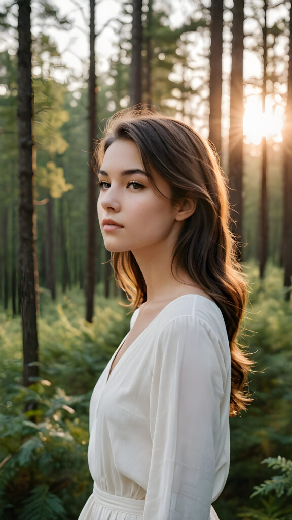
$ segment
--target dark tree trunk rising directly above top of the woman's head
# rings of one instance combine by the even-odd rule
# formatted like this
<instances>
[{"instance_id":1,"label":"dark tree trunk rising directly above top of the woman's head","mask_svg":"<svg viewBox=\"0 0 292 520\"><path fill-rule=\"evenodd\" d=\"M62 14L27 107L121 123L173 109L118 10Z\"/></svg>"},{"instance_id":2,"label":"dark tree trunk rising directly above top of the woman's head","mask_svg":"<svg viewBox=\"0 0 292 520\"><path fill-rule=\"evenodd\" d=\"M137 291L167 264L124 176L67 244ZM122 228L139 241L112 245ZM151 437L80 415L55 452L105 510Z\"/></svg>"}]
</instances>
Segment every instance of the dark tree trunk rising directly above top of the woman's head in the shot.
<instances>
[{"instance_id":1,"label":"dark tree trunk rising directly above top of the woman's head","mask_svg":"<svg viewBox=\"0 0 292 520\"><path fill-rule=\"evenodd\" d=\"M142 0L132 0L131 106L142 102Z\"/></svg>"}]
</instances>

